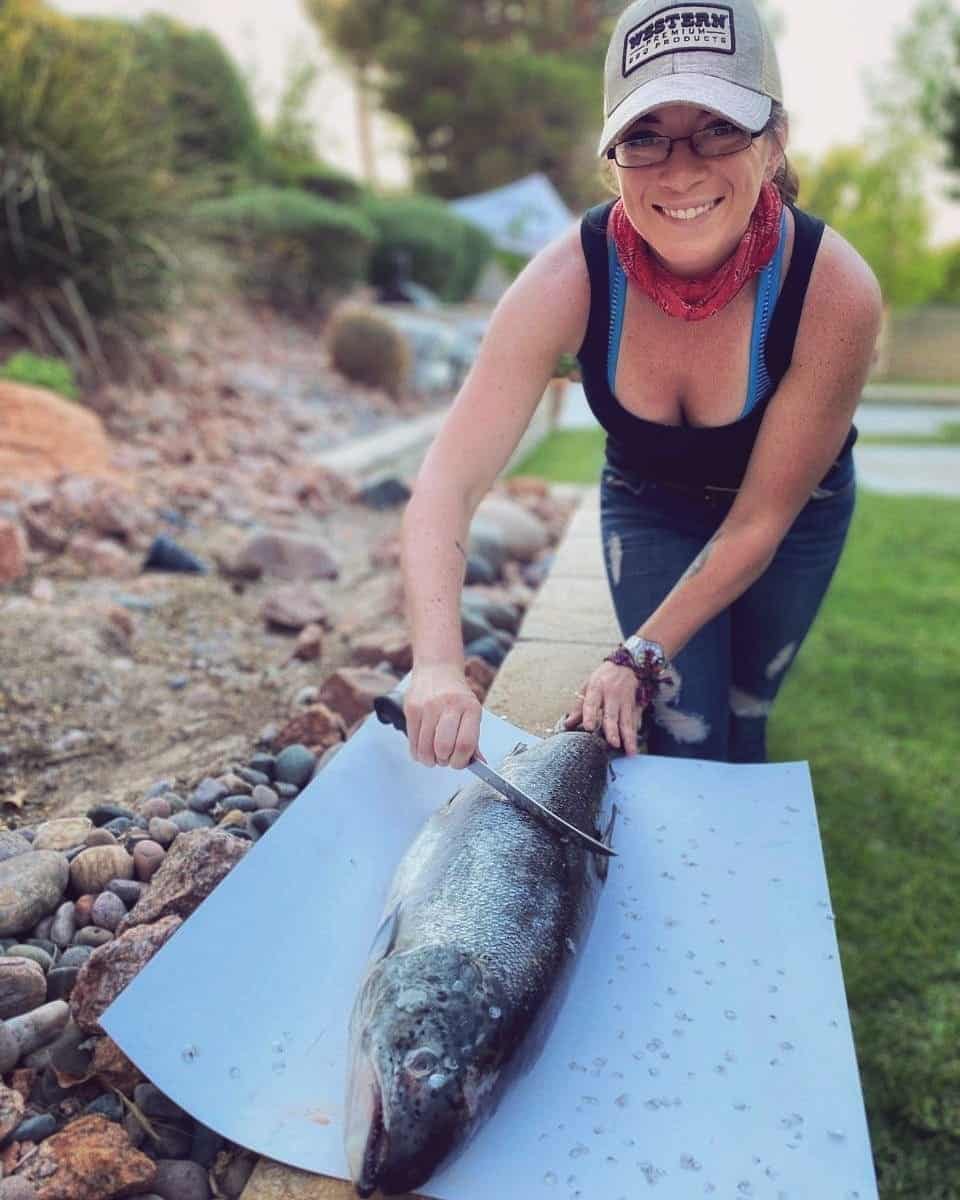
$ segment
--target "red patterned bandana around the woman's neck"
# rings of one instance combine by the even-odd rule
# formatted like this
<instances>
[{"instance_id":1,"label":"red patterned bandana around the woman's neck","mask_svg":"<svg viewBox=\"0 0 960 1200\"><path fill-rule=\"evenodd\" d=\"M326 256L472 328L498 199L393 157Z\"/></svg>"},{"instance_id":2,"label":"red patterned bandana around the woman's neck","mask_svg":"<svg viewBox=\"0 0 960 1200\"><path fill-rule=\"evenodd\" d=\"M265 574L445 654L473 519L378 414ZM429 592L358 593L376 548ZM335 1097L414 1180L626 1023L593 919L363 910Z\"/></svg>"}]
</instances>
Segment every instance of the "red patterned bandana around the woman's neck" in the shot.
<instances>
[{"instance_id":1,"label":"red patterned bandana around the woman's neck","mask_svg":"<svg viewBox=\"0 0 960 1200\"><path fill-rule=\"evenodd\" d=\"M617 200L610 215L617 257L637 287L668 317L706 320L713 317L743 288L748 280L773 258L780 240L780 214L784 202L773 184L764 184L750 215L750 224L739 245L710 275L684 280L661 266L649 246L630 224L623 200Z\"/></svg>"}]
</instances>

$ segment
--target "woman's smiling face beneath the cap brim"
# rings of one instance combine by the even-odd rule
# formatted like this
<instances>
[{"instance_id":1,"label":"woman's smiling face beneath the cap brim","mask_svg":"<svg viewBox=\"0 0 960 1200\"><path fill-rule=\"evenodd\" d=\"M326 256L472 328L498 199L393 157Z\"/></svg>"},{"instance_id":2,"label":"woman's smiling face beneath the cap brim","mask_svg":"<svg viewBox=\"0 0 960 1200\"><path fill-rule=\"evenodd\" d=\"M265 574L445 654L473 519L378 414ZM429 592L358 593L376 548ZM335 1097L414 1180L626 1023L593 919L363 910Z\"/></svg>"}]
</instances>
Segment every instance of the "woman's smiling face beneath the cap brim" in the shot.
<instances>
[{"instance_id":1,"label":"woman's smiling face beneath the cap brim","mask_svg":"<svg viewBox=\"0 0 960 1200\"><path fill-rule=\"evenodd\" d=\"M638 118L619 140L641 133L685 138L725 120L692 104L664 104ZM624 210L641 238L667 270L696 277L733 253L762 185L781 161L781 146L768 132L719 158L701 158L680 142L666 162L614 169Z\"/></svg>"}]
</instances>

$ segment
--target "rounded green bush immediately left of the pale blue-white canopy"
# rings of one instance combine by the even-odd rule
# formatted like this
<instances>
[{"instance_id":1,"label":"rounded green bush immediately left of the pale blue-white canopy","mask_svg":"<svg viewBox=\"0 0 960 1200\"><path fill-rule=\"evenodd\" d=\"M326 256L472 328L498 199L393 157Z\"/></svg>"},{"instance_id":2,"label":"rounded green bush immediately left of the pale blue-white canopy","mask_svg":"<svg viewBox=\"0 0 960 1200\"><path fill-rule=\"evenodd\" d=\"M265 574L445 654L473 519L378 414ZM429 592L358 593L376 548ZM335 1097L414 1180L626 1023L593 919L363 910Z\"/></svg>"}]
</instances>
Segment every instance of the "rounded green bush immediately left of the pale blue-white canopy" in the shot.
<instances>
[{"instance_id":1,"label":"rounded green bush immediately left of the pale blue-white canopy","mask_svg":"<svg viewBox=\"0 0 960 1200\"><path fill-rule=\"evenodd\" d=\"M402 263L413 280L442 300L464 300L493 253L481 229L430 196L367 196L361 210L378 232L370 265L371 282L378 286L391 282Z\"/></svg>"}]
</instances>

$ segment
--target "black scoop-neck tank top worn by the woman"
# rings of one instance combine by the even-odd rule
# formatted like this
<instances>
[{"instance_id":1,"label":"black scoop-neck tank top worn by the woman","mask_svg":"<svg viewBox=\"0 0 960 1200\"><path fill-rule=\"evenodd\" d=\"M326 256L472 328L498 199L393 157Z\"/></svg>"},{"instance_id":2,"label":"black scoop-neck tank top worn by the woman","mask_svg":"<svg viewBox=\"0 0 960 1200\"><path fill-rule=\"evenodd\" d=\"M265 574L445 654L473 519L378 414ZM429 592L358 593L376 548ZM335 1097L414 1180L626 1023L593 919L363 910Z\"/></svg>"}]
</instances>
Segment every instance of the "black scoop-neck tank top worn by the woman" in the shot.
<instances>
[{"instance_id":1,"label":"black scoop-neck tank top worn by the woman","mask_svg":"<svg viewBox=\"0 0 960 1200\"><path fill-rule=\"evenodd\" d=\"M607 218L616 198L583 216L580 226L583 256L590 277L590 316L583 344L577 350L583 391L594 416L607 432L606 456L611 466L642 479L689 487L739 487L760 431L767 400L728 425L665 425L628 412L607 380L610 342L610 269ZM770 319L766 361L774 392L793 356L800 313L814 269L823 222L790 205L794 221L793 253ZM851 426L839 457L857 440Z\"/></svg>"}]
</instances>

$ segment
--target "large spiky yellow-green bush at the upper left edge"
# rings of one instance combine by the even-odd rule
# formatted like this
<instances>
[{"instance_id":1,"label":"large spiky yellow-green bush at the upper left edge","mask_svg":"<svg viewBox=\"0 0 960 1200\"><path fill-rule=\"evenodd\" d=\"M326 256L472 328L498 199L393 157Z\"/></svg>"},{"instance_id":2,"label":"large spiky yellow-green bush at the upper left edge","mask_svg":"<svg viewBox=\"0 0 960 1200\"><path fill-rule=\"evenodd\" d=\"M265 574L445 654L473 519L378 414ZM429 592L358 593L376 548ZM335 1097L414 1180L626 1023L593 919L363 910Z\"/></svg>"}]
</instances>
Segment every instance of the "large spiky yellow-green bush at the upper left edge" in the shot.
<instances>
[{"instance_id":1,"label":"large spiky yellow-green bush at the upper left edge","mask_svg":"<svg viewBox=\"0 0 960 1200\"><path fill-rule=\"evenodd\" d=\"M162 86L132 28L0 6L0 313L76 368L152 328L181 192Z\"/></svg>"}]
</instances>

